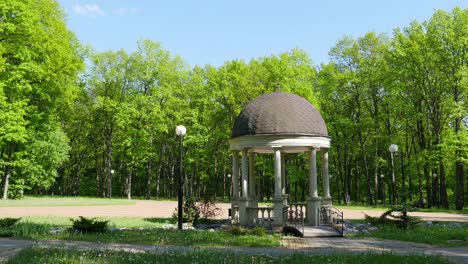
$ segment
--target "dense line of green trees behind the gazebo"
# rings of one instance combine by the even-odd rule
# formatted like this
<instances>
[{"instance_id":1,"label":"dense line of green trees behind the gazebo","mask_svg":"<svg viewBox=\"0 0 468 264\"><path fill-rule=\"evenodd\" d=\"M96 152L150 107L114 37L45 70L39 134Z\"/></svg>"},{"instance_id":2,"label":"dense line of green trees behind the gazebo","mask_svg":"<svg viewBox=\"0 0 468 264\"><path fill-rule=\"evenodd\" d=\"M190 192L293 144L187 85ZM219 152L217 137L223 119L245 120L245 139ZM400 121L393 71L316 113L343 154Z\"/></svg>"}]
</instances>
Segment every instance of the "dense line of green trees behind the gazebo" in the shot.
<instances>
[{"instance_id":1,"label":"dense line of green trees behind the gazebo","mask_svg":"<svg viewBox=\"0 0 468 264\"><path fill-rule=\"evenodd\" d=\"M29 194L229 197L227 140L243 107L276 90L308 99L332 138L332 195L343 203L462 209L467 201L468 9L436 11L392 36L345 36L315 65L293 49L189 67L158 42L96 52L66 28L55 1L0 3L0 179L3 198ZM392 159L388 147L396 144ZM288 192L307 196L306 155L287 155ZM271 197L272 157L258 156ZM467 185L466 185L467 184Z\"/></svg>"}]
</instances>

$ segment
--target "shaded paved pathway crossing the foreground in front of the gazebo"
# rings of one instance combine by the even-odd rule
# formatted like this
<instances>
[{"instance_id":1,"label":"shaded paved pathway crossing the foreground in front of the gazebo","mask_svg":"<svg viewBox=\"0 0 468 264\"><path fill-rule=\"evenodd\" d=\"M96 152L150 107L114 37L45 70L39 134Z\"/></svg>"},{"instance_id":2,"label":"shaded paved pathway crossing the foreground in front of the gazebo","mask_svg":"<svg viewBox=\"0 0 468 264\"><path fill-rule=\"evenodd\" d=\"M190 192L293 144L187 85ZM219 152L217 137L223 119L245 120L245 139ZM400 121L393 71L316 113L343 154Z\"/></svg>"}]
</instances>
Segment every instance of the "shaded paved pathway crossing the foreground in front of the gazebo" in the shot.
<instances>
[{"instance_id":1,"label":"shaded paved pathway crossing the foreground in front of the gazebo","mask_svg":"<svg viewBox=\"0 0 468 264\"><path fill-rule=\"evenodd\" d=\"M121 250L127 252L151 252L161 253L165 251L190 251L201 247L194 246L153 246L141 244L115 244L95 243L83 241L57 241L57 240L25 240L14 238L0 238L0 263L18 254L27 247L40 248L73 248L80 250ZM231 250L245 254L293 254L304 252L307 254L331 254L334 252L393 252L402 255L439 255L444 256L455 263L468 264L468 247L434 247L426 244L390 241L381 239L351 239L351 238L310 238L301 239L285 237L281 247L277 248L251 248L251 247L211 247L213 250Z\"/></svg>"}]
</instances>

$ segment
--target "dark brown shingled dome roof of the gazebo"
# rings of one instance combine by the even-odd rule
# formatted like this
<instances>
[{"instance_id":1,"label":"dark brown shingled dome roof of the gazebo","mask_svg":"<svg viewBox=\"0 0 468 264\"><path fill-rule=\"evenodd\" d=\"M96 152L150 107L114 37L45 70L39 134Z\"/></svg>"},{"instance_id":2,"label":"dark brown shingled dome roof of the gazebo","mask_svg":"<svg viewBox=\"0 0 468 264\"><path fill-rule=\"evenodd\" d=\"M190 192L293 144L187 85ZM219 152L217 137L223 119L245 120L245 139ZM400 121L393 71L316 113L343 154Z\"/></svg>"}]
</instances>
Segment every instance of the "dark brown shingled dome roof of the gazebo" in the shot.
<instances>
[{"instance_id":1,"label":"dark brown shingled dome roof of the gazebo","mask_svg":"<svg viewBox=\"0 0 468 264\"><path fill-rule=\"evenodd\" d=\"M262 134L327 136L328 132L320 113L305 98L274 92L251 101L232 129L233 138Z\"/></svg>"}]
</instances>

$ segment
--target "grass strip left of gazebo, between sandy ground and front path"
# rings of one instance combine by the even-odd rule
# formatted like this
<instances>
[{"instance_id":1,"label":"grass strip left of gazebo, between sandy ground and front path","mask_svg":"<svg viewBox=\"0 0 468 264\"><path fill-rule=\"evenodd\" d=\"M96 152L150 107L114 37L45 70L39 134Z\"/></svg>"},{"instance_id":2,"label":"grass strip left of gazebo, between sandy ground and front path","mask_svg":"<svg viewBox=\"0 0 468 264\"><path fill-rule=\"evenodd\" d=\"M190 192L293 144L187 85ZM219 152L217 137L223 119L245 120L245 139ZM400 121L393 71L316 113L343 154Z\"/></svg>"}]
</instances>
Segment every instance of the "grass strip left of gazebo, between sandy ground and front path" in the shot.
<instances>
[{"instance_id":1,"label":"grass strip left of gazebo, between sandy ground and front path","mask_svg":"<svg viewBox=\"0 0 468 264\"><path fill-rule=\"evenodd\" d=\"M130 243L151 245L194 245L194 246L247 246L277 247L280 235L236 236L225 231L208 230L164 230L169 218L98 218L110 220L109 226L126 227L125 230L107 231L102 234L81 234L64 230L50 234L51 228L70 227L71 221L65 217L28 217L11 228L0 229L0 236L32 238L42 240L77 240L102 243Z\"/></svg>"}]
</instances>

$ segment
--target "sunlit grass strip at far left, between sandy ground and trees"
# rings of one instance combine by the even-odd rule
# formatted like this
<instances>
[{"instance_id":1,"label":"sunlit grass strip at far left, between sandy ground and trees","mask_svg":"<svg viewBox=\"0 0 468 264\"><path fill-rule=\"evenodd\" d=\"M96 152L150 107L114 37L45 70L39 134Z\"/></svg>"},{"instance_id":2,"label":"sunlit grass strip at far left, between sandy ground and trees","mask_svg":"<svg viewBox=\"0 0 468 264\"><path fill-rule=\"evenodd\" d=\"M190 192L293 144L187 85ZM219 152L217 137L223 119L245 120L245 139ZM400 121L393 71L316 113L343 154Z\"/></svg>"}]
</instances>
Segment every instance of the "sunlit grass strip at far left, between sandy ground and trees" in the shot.
<instances>
[{"instance_id":1,"label":"sunlit grass strip at far left, between sandy ground and trees","mask_svg":"<svg viewBox=\"0 0 468 264\"><path fill-rule=\"evenodd\" d=\"M93 206L93 205L128 205L135 200L108 199L90 197L26 196L18 200L0 200L0 207L42 207L42 206Z\"/></svg>"}]
</instances>

